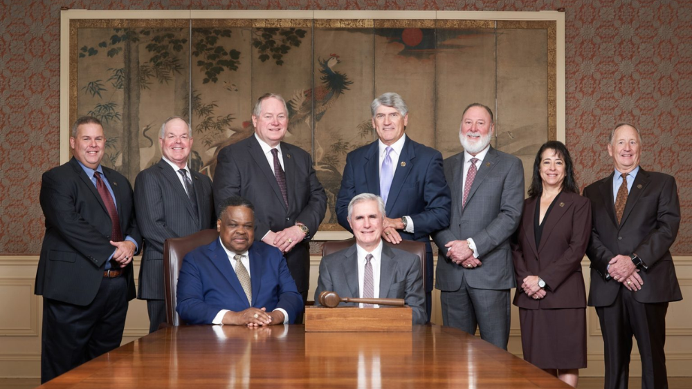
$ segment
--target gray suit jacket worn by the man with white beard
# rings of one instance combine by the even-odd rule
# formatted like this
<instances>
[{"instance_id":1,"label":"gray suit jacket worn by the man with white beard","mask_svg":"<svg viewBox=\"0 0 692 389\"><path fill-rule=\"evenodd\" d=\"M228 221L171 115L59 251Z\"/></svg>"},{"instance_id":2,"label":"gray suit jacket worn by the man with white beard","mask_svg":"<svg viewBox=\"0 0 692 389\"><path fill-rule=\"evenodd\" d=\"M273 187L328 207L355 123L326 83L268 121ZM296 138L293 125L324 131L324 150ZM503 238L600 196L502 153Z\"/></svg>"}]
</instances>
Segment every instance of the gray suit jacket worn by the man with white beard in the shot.
<instances>
[{"instance_id":1,"label":"gray suit jacket worn by the man with white beard","mask_svg":"<svg viewBox=\"0 0 692 389\"><path fill-rule=\"evenodd\" d=\"M462 209L464 153L444 160L444 176L452 189L449 227L432 234L439 249L435 287L453 292L466 283L477 289L504 290L515 287L509 240L519 225L524 202L524 168L513 155L492 146L476 173ZM466 269L447 258L444 247L452 240L473 238L479 267Z\"/></svg>"}]
</instances>

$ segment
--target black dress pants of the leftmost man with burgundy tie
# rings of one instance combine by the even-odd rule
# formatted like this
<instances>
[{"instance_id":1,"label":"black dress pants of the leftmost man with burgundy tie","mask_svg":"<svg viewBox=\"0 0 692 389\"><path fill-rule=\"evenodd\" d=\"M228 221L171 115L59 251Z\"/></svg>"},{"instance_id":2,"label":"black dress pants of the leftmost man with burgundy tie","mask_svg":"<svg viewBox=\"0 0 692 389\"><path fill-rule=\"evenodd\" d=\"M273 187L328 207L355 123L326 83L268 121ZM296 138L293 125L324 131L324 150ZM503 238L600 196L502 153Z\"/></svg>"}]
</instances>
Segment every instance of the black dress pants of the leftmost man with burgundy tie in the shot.
<instances>
[{"instance_id":1,"label":"black dress pants of the leftmost man with burgundy tie","mask_svg":"<svg viewBox=\"0 0 692 389\"><path fill-rule=\"evenodd\" d=\"M103 278L86 306L44 297L41 383L120 346L127 314L127 280Z\"/></svg>"}]
</instances>

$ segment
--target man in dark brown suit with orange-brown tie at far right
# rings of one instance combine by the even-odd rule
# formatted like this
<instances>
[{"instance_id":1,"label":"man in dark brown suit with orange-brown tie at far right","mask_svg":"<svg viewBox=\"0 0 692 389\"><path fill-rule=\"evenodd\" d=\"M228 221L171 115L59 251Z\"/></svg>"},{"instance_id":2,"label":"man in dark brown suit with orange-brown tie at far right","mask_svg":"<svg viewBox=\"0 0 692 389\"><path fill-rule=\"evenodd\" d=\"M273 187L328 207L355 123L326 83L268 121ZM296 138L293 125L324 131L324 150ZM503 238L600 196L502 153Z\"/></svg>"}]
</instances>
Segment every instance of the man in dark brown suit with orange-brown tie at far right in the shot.
<instances>
[{"instance_id":1,"label":"man in dark brown suit with orange-brown tie at far right","mask_svg":"<svg viewBox=\"0 0 692 389\"><path fill-rule=\"evenodd\" d=\"M668 388L666 312L682 300L670 248L680 227L675 178L639 167L641 135L630 124L610 133L614 173L584 189L593 230L588 305L605 346L605 388L627 388L632 335L641 355L641 388Z\"/></svg>"}]
</instances>

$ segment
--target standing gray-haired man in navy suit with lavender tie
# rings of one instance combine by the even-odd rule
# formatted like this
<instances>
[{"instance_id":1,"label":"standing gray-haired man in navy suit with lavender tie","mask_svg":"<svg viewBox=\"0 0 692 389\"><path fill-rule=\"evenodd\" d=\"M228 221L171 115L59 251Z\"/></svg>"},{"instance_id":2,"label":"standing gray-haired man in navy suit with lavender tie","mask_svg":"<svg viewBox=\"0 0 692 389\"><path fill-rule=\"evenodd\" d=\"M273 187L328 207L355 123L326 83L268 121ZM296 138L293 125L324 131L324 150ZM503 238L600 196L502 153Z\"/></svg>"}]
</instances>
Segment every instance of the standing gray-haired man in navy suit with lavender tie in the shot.
<instances>
[{"instance_id":1,"label":"standing gray-haired man in navy suit with lavender tie","mask_svg":"<svg viewBox=\"0 0 692 389\"><path fill-rule=\"evenodd\" d=\"M432 307L432 231L449 225L450 193L442 173L439 151L404 135L408 106L397 93L385 93L370 104L372 126L378 140L346 156L336 216L341 227L352 231L348 205L360 193L379 195L386 215L382 238L426 243L426 311Z\"/></svg>"}]
</instances>

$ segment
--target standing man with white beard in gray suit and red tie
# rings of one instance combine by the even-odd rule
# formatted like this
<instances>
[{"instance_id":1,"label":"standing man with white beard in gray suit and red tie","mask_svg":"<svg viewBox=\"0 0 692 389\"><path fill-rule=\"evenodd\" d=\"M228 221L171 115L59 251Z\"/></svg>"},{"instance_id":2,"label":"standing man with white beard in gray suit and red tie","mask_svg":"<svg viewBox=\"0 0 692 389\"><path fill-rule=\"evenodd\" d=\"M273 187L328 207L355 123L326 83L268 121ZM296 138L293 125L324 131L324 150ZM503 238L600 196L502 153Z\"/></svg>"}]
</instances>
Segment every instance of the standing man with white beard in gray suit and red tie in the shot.
<instances>
[{"instance_id":1,"label":"standing man with white beard in gray suit and red tie","mask_svg":"<svg viewBox=\"0 0 692 389\"><path fill-rule=\"evenodd\" d=\"M437 289L444 325L507 350L509 290L516 286L509 239L524 203L521 160L490 146L493 111L474 103L462 113L462 153L444 160L452 188L449 228L432 235L439 247Z\"/></svg>"}]
</instances>

